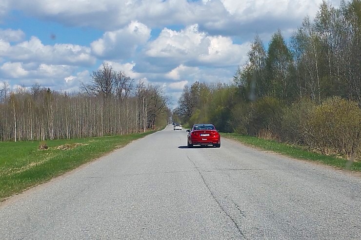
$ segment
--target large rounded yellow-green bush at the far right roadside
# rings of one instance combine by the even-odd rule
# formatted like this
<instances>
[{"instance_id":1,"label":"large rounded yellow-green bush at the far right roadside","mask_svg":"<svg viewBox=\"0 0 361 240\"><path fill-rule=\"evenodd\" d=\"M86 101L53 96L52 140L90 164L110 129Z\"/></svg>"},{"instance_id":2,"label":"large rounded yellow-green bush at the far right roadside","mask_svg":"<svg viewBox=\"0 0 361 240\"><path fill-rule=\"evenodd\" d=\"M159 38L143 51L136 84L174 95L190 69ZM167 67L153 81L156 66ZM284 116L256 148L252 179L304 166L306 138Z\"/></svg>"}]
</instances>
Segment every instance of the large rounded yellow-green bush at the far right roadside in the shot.
<instances>
[{"instance_id":1,"label":"large rounded yellow-green bush at the far right roadside","mask_svg":"<svg viewBox=\"0 0 361 240\"><path fill-rule=\"evenodd\" d=\"M361 109L355 101L330 98L312 109L305 130L308 144L322 154L350 157L360 151Z\"/></svg>"}]
</instances>

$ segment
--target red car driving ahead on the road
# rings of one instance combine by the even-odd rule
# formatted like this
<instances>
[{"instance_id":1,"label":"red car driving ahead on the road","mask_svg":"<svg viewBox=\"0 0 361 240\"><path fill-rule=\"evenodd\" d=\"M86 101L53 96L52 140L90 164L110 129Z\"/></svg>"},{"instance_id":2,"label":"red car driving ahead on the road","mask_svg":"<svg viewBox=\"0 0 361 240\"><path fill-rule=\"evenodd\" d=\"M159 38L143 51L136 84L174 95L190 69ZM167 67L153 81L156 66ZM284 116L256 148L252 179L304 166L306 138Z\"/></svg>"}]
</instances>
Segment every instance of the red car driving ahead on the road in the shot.
<instances>
[{"instance_id":1,"label":"red car driving ahead on the road","mask_svg":"<svg viewBox=\"0 0 361 240\"><path fill-rule=\"evenodd\" d=\"M187 130L187 145L213 145L221 147L221 135L212 124L194 124L191 130Z\"/></svg>"}]
</instances>

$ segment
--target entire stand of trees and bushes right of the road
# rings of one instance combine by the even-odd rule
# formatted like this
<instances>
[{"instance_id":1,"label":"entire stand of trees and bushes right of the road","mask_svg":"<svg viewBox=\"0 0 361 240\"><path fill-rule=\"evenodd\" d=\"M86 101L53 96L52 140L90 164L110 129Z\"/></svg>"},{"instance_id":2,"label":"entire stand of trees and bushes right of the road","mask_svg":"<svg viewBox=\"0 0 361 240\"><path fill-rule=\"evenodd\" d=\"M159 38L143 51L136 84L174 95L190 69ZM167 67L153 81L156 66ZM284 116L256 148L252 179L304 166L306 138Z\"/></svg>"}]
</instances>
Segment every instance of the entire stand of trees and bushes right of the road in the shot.
<instances>
[{"instance_id":1,"label":"entire stand of trees and bushes right of the road","mask_svg":"<svg viewBox=\"0 0 361 240\"><path fill-rule=\"evenodd\" d=\"M174 118L361 156L361 0L323 1L289 40L256 36L233 83L185 86Z\"/></svg>"}]
</instances>

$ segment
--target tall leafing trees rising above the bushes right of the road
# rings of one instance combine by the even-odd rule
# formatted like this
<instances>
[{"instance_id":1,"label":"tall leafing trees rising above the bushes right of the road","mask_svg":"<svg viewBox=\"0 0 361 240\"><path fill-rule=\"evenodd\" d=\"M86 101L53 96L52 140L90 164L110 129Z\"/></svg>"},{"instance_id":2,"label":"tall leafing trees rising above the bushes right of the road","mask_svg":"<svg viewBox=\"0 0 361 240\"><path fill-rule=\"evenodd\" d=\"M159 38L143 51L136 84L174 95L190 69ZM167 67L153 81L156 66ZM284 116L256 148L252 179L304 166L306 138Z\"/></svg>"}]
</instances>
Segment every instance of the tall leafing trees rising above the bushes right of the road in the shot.
<instances>
[{"instance_id":1,"label":"tall leafing trees rising above the bushes right of the road","mask_svg":"<svg viewBox=\"0 0 361 240\"><path fill-rule=\"evenodd\" d=\"M288 103L341 96L361 106L361 0L341 1L339 8L323 1L287 43L279 30L266 51L256 36L248 57L234 76L244 94Z\"/></svg>"}]
</instances>

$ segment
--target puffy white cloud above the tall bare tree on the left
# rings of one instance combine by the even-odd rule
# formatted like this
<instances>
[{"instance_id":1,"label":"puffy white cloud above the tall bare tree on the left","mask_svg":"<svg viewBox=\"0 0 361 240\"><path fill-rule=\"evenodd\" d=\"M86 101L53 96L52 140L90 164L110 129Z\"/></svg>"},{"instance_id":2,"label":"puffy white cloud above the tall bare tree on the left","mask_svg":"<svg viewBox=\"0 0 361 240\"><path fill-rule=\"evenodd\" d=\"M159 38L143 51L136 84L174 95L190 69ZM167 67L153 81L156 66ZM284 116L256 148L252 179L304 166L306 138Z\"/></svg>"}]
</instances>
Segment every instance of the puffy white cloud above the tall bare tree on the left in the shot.
<instances>
[{"instance_id":1,"label":"puffy white cloud above the tall bare tree on the left","mask_svg":"<svg viewBox=\"0 0 361 240\"><path fill-rule=\"evenodd\" d=\"M139 45L150 38L151 30L138 21L127 27L104 33L103 37L91 43L93 53L100 58L127 59Z\"/></svg>"}]
</instances>

